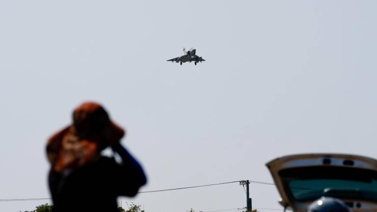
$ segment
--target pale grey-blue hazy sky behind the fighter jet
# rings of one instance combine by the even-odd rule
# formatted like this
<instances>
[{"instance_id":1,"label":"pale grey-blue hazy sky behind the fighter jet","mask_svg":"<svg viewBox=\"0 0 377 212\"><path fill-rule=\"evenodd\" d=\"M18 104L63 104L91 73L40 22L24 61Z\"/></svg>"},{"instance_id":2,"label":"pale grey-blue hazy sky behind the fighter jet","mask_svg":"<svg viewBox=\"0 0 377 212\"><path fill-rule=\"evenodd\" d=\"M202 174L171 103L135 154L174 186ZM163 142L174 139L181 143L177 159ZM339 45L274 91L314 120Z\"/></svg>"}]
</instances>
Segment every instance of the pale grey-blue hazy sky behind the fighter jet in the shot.
<instances>
[{"instance_id":1,"label":"pale grey-blue hazy sky behind the fighter jet","mask_svg":"<svg viewBox=\"0 0 377 212\"><path fill-rule=\"evenodd\" d=\"M376 10L375 0L1 0L0 199L49 197L46 139L86 100L127 129L122 143L149 177L141 190L272 182L265 163L295 153L376 157ZM183 47L207 61L166 62ZM281 208L274 186L250 189L253 207ZM245 194L229 184L125 201L205 212L244 207Z\"/></svg>"}]
</instances>

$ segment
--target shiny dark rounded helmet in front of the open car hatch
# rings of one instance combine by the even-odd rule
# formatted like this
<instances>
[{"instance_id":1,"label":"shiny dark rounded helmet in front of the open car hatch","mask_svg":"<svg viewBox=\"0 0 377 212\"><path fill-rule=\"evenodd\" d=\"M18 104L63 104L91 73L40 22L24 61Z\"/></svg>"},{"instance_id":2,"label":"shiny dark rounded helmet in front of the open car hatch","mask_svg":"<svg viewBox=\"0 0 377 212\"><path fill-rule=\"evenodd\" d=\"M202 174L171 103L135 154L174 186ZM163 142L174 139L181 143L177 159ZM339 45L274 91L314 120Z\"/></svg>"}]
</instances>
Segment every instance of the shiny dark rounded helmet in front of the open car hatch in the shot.
<instances>
[{"instance_id":1,"label":"shiny dark rounded helmet in front of the open car hatch","mask_svg":"<svg viewBox=\"0 0 377 212\"><path fill-rule=\"evenodd\" d=\"M308 212L351 212L351 210L340 199L321 197L309 205Z\"/></svg>"}]
</instances>

